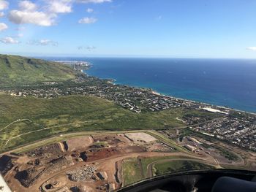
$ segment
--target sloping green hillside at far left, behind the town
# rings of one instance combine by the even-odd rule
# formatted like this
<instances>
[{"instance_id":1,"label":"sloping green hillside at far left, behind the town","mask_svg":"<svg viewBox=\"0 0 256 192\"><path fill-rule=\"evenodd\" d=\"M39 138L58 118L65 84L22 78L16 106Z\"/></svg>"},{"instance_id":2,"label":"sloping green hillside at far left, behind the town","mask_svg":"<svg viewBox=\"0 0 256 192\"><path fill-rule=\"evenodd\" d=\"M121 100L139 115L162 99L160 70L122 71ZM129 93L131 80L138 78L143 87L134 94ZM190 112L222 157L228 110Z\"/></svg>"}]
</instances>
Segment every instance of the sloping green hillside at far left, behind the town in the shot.
<instances>
[{"instance_id":1,"label":"sloping green hillside at far left, behind the town","mask_svg":"<svg viewBox=\"0 0 256 192\"><path fill-rule=\"evenodd\" d=\"M15 55L0 55L0 87L34 82L58 82L73 78L75 72L63 64Z\"/></svg>"}]
</instances>

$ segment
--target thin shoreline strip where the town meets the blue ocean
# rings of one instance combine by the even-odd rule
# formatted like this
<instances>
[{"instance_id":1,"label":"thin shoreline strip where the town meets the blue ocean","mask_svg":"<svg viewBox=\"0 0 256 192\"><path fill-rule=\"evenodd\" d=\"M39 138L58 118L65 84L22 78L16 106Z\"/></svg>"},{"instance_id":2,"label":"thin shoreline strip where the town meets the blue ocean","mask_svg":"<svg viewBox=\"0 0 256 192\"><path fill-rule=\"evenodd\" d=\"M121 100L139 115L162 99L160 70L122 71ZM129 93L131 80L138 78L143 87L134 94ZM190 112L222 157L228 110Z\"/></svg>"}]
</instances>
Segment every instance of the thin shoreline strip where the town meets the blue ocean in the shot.
<instances>
[{"instance_id":1,"label":"thin shoreline strip where the town meets the blue ocean","mask_svg":"<svg viewBox=\"0 0 256 192\"><path fill-rule=\"evenodd\" d=\"M93 66L93 64L91 64L91 66ZM90 68L91 68L91 66L90 66ZM86 71L88 71L89 69L83 70L83 73L90 76L90 77L97 77L97 76L94 76L94 75L87 74ZM118 83L118 82L116 83L117 80L115 80L115 79L105 79L105 78L100 78L100 77L97 77L97 78L99 78L101 80L111 80L113 85L125 85L125 84L121 84L121 83ZM151 91L153 94L156 94L156 95L159 95L159 96L164 96L164 97L167 97L167 98L170 98L170 99L178 99L178 100L181 100L181 101L192 102L194 104L203 104L203 105L206 105L207 107L216 107L217 109L230 110L230 111L235 111L235 112L243 112L243 113L248 113L248 114L251 114L251 115L256 115L256 112L238 110L238 109L233 109L233 108L230 108L230 107L224 107L224 106L215 105L215 104L208 104L208 103L205 103L203 101L193 101L193 100L189 100L189 99L179 98L179 97L176 97L176 96L170 96L170 95L167 95L167 94L164 94L164 93L159 93L157 91L154 91L153 88L144 88L144 87L133 86L133 85L126 85L126 86L141 88L141 89L151 89L151 90L153 90L153 91Z\"/></svg>"}]
</instances>

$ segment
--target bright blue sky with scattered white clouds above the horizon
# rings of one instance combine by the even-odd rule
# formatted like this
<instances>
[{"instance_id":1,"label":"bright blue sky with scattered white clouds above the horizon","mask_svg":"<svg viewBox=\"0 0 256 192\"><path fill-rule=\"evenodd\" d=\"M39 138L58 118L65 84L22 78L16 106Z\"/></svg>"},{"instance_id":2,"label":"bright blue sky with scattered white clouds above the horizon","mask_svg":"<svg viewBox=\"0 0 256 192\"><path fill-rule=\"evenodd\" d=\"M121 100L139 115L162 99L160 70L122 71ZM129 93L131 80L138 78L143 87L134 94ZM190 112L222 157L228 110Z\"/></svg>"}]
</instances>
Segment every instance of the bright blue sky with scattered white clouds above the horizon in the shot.
<instances>
[{"instance_id":1,"label":"bright blue sky with scattered white clouds above the horizon","mask_svg":"<svg viewBox=\"0 0 256 192\"><path fill-rule=\"evenodd\" d=\"M256 58L256 1L0 0L0 53Z\"/></svg>"}]
</instances>

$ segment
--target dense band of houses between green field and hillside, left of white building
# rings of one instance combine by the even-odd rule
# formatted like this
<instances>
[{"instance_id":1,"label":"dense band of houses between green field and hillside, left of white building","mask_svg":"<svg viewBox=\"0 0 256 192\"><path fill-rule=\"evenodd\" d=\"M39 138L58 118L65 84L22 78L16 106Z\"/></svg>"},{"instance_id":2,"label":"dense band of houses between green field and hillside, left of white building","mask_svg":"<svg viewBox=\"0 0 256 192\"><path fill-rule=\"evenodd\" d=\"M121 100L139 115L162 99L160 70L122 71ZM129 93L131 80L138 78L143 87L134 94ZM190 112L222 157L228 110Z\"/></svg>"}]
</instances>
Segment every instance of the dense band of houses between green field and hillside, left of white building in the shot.
<instances>
[{"instance_id":1,"label":"dense band of houses between green field and hillside, left of white building","mask_svg":"<svg viewBox=\"0 0 256 192\"><path fill-rule=\"evenodd\" d=\"M44 86L11 89L8 91L12 96L34 96L50 99L57 96L84 95L99 96L109 99L116 104L132 112L147 112L167 110L173 107L195 107L199 105L192 101L162 96L150 89L132 88L127 85L114 85L110 81L97 80L98 85L86 85L79 83L71 86L60 86L57 82L51 82ZM96 82L96 83L97 83ZM95 83L95 82L94 82Z\"/></svg>"}]
</instances>

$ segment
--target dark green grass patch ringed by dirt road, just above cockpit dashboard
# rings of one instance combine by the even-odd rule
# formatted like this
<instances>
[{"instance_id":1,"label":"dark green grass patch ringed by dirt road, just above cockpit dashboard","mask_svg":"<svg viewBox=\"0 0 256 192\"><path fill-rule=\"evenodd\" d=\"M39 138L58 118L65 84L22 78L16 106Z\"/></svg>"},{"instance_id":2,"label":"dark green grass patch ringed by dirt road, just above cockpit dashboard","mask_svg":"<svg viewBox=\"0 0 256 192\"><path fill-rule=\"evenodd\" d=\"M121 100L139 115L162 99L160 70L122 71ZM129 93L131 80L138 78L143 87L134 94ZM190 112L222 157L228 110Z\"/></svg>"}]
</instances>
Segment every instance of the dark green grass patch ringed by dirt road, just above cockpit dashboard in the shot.
<instances>
[{"instance_id":1,"label":"dark green grass patch ringed by dirt road, just above cockpit dashboard","mask_svg":"<svg viewBox=\"0 0 256 192\"><path fill-rule=\"evenodd\" d=\"M214 166L201 164L197 161L166 161L159 162L154 165L154 174L161 175L167 174L171 172L182 172L187 170L197 170L197 169L213 169Z\"/></svg>"}]
</instances>

